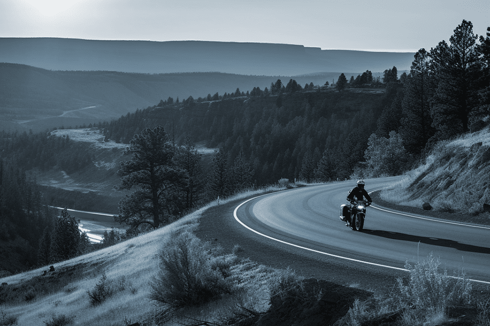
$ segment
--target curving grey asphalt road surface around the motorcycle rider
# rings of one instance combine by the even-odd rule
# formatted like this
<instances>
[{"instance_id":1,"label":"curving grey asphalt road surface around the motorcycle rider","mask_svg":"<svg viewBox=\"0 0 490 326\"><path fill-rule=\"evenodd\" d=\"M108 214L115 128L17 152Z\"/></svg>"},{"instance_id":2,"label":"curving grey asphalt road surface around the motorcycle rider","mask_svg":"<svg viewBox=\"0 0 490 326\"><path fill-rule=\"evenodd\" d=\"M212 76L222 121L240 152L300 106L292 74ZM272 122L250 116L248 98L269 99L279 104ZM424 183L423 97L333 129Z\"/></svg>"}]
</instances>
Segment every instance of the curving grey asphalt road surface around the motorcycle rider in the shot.
<instances>
[{"instance_id":1,"label":"curving grey asphalt road surface around the motorcycle rider","mask_svg":"<svg viewBox=\"0 0 490 326\"><path fill-rule=\"evenodd\" d=\"M373 191L398 178L366 180ZM297 188L252 198L235 209L235 219L250 231L274 241L340 260L403 270L431 253L440 267L464 268L467 276L490 284L490 228L424 218L384 208L367 208L364 230L356 232L339 219L355 182Z\"/></svg>"}]
</instances>

